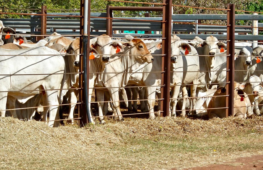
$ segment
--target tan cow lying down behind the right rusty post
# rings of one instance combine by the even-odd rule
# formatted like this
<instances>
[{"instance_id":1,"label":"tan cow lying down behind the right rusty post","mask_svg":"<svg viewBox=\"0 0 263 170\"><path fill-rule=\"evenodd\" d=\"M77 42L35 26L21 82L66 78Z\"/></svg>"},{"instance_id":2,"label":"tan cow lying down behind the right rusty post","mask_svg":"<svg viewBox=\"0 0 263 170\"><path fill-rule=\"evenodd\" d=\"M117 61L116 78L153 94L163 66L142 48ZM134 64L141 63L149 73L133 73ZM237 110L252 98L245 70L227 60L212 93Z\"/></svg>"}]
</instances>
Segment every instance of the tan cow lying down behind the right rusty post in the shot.
<instances>
[{"instance_id":1,"label":"tan cow lying down behind the right rusty post","mask_svg":"<svg viewBox=\"0 0 263 170\"><path fill-rule=\"evenodd\" d=\"M254 118L255 115L251 109L251 103L247 94L243 91L244 85L240 83L234 83L234 116L241 119ZM226 117L226 88L219 87L214 93L214 99L208 104L208 117L224 118Z\"/></svg>"}]
</instances>

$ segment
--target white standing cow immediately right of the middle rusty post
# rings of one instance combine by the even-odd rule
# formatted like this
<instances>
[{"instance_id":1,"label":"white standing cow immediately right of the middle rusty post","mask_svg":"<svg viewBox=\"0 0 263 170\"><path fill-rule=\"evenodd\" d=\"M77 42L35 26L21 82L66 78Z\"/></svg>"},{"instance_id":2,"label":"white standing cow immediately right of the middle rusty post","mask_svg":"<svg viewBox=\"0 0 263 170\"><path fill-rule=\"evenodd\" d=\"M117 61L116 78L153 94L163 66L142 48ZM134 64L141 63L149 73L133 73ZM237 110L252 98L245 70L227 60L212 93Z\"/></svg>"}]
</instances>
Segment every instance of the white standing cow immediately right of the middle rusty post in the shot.
<instances>
[{"instance_id":1,"label":"white standing cow immediately right of the middle rusty post","mask_svg":"<svg viewBox=\"0 0 263 170\"><path fill-rule=\"evenodd\" d=\"M184 51L180 51L180 50ZM189 51L189 54L185 55L185 51ZM190 71L190 72L189 72ZM199 57L194 47L186 43L181 43L181 40L176 35L171 38L171 88L173 93L171 94L171 117L176 117L176 103L177 97L182 89L183 105L182 116L185 116L185 104L187 96L186 85L191 86L191 100L192 100L192 114L196 114L195 102L196 102L196 87L198 84L199 76Z\"/></svg>"}]
</instances>

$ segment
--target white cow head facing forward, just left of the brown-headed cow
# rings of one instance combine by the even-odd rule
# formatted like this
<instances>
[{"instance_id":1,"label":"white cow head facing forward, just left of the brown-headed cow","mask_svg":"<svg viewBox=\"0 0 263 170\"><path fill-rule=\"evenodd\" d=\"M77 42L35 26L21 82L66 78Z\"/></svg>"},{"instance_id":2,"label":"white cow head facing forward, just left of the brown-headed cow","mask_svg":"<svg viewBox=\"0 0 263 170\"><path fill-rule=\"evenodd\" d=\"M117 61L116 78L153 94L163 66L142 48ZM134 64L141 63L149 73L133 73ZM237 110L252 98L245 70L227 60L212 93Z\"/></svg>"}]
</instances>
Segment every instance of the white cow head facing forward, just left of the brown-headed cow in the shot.
<instances>
[{"instance_id":1,"label":"white cow head facing forward, just left of the brown-headed cow","mask_svg":"<svg viewBox=\"0 0 263 170\"><path fill-rule=\"evenodd\" d=\"M118 48L120 52L123 51L123 47L118 42L113 42L112 38L106 34L102 34L97 38L97 41L90 44L92 48L98 51L101 54L101 61L106 63L109 62L110 56L116 53L116 49Z\"/></svg>"}]
</instances>

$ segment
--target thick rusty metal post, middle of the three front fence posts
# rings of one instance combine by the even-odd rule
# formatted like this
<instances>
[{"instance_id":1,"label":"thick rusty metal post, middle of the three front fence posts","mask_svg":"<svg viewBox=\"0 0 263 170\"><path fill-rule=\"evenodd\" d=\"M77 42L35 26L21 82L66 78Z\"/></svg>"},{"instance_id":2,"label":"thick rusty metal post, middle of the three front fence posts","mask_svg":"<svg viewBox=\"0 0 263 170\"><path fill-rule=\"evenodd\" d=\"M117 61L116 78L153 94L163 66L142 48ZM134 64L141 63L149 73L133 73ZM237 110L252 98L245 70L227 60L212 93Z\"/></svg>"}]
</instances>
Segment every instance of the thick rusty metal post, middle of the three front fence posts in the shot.
<instances>
[{"instance_id":1,"label":"thick rusty metal post, middle of the three front fence posts","mask_svg":"<svg viewBox=\"0 0 263 170\"><path fill-rule=\"evenodd\" d=\"M162 23L162 37L165 38L162 40L162 54L165 54L162 57L162 81L161 85L164 87L161 88L161 98L164 100L161 101L161 116L169 116L170 112L170 71L171 71L171 31L172 31L172 0L163 0L163 3L166 4L163 6L163 21Z\"/></svg>"}]
</instances>

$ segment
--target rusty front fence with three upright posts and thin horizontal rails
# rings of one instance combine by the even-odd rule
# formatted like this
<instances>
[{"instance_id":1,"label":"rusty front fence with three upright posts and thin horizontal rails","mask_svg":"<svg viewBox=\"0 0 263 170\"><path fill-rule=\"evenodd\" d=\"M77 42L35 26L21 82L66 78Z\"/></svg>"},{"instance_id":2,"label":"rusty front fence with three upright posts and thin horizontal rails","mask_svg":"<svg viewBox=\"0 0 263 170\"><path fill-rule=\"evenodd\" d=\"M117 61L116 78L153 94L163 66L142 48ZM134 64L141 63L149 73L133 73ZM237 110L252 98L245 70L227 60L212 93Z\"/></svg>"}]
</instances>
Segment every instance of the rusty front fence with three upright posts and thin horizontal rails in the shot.
<instances>
[{"instance_id":1,"label":"rusty front fence with three upright posts and thin horizontal rails","mask_svg":"<svg viewBox=\"0 0 263 170\"><path fill-rule=\"evenodd\" d=\"M124 2L124 1L121 1L121 2ZM128 3L129 1L125 1L125 2ZM136 2L131 2L131 3L136 3ZM170 79L170 73L173 73L173 71L169 70L170 69L169 58L170 58L170 56L181 56L181 55L171 55L171 51L169 50L169 48L165 48L167 46L169 47L171 45L171 40L173 40L171 38L171 36L170 36L171 35L171 23L181 23L181 24L196 24L196 23L184 23L184 22L173 22L172 21L172 18L171 18L171 6L182 6L182 5L172 5L170 1L166 1L166 0L164 0L163 4L159 4L159 5L163 5L163 7L161 7L162 10L163 10L163 21L156 21L156 22L160 22L160 23L163 24L163 31L162 31L163 35L162 35L162 38L151 38L151 39L162 39L162 42L163 42L163 45L162 45L163 53L161 55L161 57L162 57L162 71L161 72L144 72L144 73L160 73L162 75L162 85L156 86L156 87L160 87L161 88L161 95L162 95L162 97L161 97L161 99L159 99L162 102L162 104L161 104L161 106L162 106L162 108L161 108L162 115L161 116L166 116L166 115L169 115L169 112L170 112L170 108L169 108L170 107L169 106L170 99L182 99L182 97L170 98L170 87L179 86L179 85L170 85L170 80L169 80ZM182 6L182 7L192 8L192 7L189 7L189 6ZM115 8L112 8L112 10L113 9L116 10L117 8L115 7ZM119 9L121 9L121 8L119 8ZM128 10L129 8L126 7L125 9ZM206 8L202 8L202 9L206 9ZM45 9L45 10L47 10L47 9ZM83 10L84 10L83 6L81 6L81 11L83 12ZM132 10L134 10L134 9L132 9ZM160 10L160 8L158 8L157 10ZM234 31L234 27L239 27L239 26L235 26L233 24L233 20L234 19L232 21L230 21L230 17L229 16L231 14L229 14L229 13L232 12L232 15L233 15L233 5L229 5L229 9L214 9L214 10L225 10L225 11L228 12L228 14L227 14L228 15L228 17L227 17L227 22L228 22L227 25L218 25L218 26L226 26L227 30L228 30L228 35L231 34L231 32L229 32L230 29L232 29L232 31ZM90 9L89 9L89 12L90 12ZM48 16L47 14L41 14L41 15L42 16ZM53 14L53 15L50 15L50 16L65 16L65 15L54 15ZM74 16L74 17L76 17L76 16ZM78 17L82 18L83 16L82 16L82 14L80 14L80 16L78 16ZM109 23L111 22L110 19L116 19L114 17L94 17L94 18L109 19ZM140 20L140 19L122 19L122 20L152 21L152 20ZM82 21L80 20L80 25L81 24L82 24ZM201 25L201 24L199 24L199 25ZM205 24L205 25L216 25L216 24ZM107 26L107 28L109 28L109 26ZM258 27L258 28L260 28L260 27ZM110 31L107 30L107 33L110 33ZM28 34L28 35L30 35L30 34ZM82 44L82 35L83 34L79 35L80 36L80 47L82 47L81 46L81 44ZM112 36L112 34L108 34L108 35ZM209 34L207 34L207 35L209 35ZM36 36L37 37L37 36L50 36L50 35L41 34L41 35L32 35L32 36ZM65 35L65 36L70 36L70 35ZM76 36L76 35L74 35L74 36ZM88 34L88 38L91 38L91 37L98 37L98 36L92 36L92 35ZM119 38L119 37L113 36L112 38ZM145 38L136 38L136 39L145 39ZM182 39L182 40L191 41L191 39ZM234 40L235 40L234 37L227 37L227 40L219 40L219 42L222 42L222 41L223 42L227 42L228 43L227 47L229 47L229 48L232 47L231 49L227 48L227 55L222 56L222 57L227 57L227 67L228 68L226 70L204 71L204 72L226 71L228 73L228 75L227 75L227 82L228 83L226 82L226 84L227 84L227 86L226 86L227 87L227 94L228 95L225 95L225 97L228 99L227 100L228 103L227 103L226 107L224 107L224 108L226 108L227 110L229 109L228 112L229 112L229 114L232 114L232 115L233 115L233 109L234 109L234 105L233 105L234 102L231 101L231 97L234 97L234 94L231 94L231 88L233 89L233 84L234 84L233 83L233 80L234 80L233 76L234 76L234 74L232 74L232 77L231 77L231 74L229 75L229 72L234 73L234 71L244 71L244 70L234 70L234 64L231 65L231 61L230 60L231 60L231 58L233 59L233 57L231 57L231 56L233 56L233 54L234 54L234 52L233 52L234 51L234 46L233 46ZM205 40L203 40L203 41L205 41ZM232 44L230 44L230 43L232 43ZM81 66L82 66L82 64L83 64L83 55L81 55L81 54L78 54L78 55L80 55L80 61L81 61ZM193 56L196 56L196 55L193 55ZM209 55L199 55L199 56L204 56L204 57L206 56L207 57ZM237 57L241 57L241 56L237 55ZM256 70L256 71L258 71L258 70ZM185 73L185 71L182 71L182 72ZM195 71L188 71L188 72L195 72ZM74 118L74 119L78 119L79 125L85 125L85 124L88 123L87 121L85 121L85 119L86 119L86 116L85 116L86 111L85 111L85 106L83 106L83 104L85 103L83 98L85 98L85 97L84 97L84 95L82 93L83 89L87 88L87 87L83 87L83 84L82 84L82 82L83 82L83 74L82 73L83 73L83 68L80 68L80 72L79 72L79 74L80 74L80 83L79 83L80 87L79 88L75 88L75 89L79 89L80 90L80 98L79 98L79 100L81 102L75 103L75 104L79 104L79 118ZM142 72L137 72L137 73L142 73ZM66 73L64 73L64 74L66 74ZM70 74L70 73L67 73L67 74ZM103 73L103 74L105 74L105 73ZM241 83L245 83L245 82L241 82ZM213 85L213 84L216 84L216 83L210 83L210 84ZM184 84L184 86L188 86L188 85L200 85L200 84ZM150 86L141 86L141 87L150 87ZM95 87L94 89L96 89L96 88L97 87ZM124 88L124 87L112 87L112 88ZM68 90L68 89L64 89L64 90ZM253 94L247 94L247 95L253 95ZM210 97L210 96L208 96L208 97ZM192 98L192 97L188 97L188 99L190 99L190 98ZM195 98L203 98L203 97L195 97ZM150 100L154 100L154 99L150 99ZM155 99L155 100L158 100L158 99ZM134 101L147 101L147 100L143 99L143 100L122 100L122 101L133 101L134 102ZM104 102L106 102L106 101L104 101ZM91 102L91 103L95 103L95 102ZM60 104L60 105L62 105L62 104ZM65 104L63 104L63 105L65 105ZM254 106L254 105L251 104L251 106ZM47 107L47 106L45 106L45 107ZM216 108L210 108L210 109L216 109ZM196 109L196 110L201 110L201 109ZM182 110L176 110L176 111L182 111ZM192 111L192 109L185 109L185 111ZM137 113L137 114L147 114L147 113ZM136 114L123 114L123 115L136 115ZM228 115L228 113L227 113L227 115ZM99 116L92 116L92 118L98 118L98 117ZM109 117L109 116L106 116L106 117Z\"/></svg>"}]
</instances>

